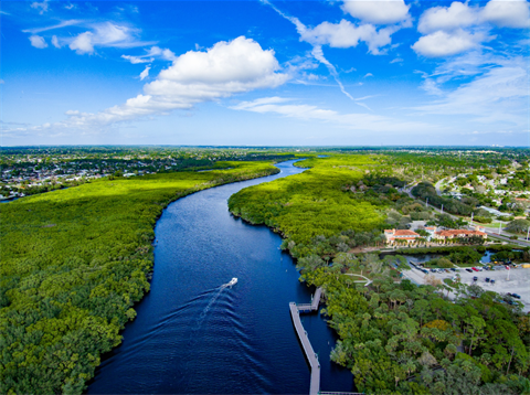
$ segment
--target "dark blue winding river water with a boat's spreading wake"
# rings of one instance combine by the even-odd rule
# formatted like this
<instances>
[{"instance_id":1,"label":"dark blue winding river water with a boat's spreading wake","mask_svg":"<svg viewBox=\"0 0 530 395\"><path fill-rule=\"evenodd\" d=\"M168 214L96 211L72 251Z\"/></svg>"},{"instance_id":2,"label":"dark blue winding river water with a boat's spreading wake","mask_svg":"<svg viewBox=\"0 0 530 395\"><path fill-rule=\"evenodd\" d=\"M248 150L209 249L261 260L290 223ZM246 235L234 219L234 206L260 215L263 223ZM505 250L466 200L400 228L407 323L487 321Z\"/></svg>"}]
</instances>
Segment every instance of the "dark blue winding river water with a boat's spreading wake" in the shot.
<instances>
[{"instance_id":1,"label":"dark blue winding river water with a boat's spreading wake","mask_svg":"<svg viewBox=\"0 0 530 395\"><path fill-rule=\"evenodd\" d=\"M309 302L282 238L234 218L227 199L243 188L301 172L201 191L171 203L157 222L151 290L123 343L106 355L87 393L304 394L309 366L288 302ZM239 282L223 287L233 277ZM301 316L321 364L322 391L352 391L329 361L336 338L320 314Z\"/></svg>"}]
</instances>

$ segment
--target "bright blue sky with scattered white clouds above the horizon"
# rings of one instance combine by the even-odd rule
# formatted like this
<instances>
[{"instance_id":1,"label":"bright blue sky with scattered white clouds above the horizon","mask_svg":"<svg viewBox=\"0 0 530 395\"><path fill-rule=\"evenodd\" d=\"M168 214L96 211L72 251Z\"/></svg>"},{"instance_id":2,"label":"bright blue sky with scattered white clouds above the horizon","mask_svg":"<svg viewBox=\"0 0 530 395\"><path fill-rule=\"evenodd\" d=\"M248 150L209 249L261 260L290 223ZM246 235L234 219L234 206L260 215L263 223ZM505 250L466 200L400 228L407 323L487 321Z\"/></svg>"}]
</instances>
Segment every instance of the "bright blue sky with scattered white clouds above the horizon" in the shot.
<instances>
[{"instance_id":1,"label":"bright blue sky with scattered white clouds above the horizon","mask_svg":"<svg viewBox=\"0 0 530 395\"><path fill-rule=\"evenodd\" d=\"M2 146L530 145L527 1L0 3Z\"/></svg>"}]
</instances>

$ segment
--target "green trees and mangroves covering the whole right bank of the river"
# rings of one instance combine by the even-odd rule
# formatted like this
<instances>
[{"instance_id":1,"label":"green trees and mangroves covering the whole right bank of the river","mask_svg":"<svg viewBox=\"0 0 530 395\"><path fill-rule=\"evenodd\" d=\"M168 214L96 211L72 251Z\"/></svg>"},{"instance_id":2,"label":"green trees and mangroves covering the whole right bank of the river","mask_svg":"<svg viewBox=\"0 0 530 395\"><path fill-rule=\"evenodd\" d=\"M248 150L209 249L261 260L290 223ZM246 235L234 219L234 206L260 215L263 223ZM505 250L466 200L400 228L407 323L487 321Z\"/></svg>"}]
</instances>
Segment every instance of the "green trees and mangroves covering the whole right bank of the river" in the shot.
<instances>
[{"instance_id":1,"label":"green trees and mangroves covering the whole right bank of the river","mask_svg":"<svg viewBox=\"0 0 530 395\"><path fill-rule=\"evenodd\" d=\"M398 270L407 269L403 257L386 255L381 260L352 253L357 246L380 245L378 232L389 225L406 228L412 215L459 225L460 220L446 215L434 217L424 204L400 192L402 179L392 175L396 170L386 167L390 160L395 157L312 158L300 162L311 167L301 174L240 191L230 199L230 210L280 232L283 248L298 259L301 280L324 288L324 312L340 337L331 359L351 370L358 391L524 393L530 388L530 319L517 301L510 307L496 292L452 280L430 278L431 285L420 287L406 279L396 281ZM473 203L448 200L455 211ZM500 254L508 248L512 246L496 249ZM475 265L485 250L441 246L396 253L445 253L448 256L432 263L452 267ZM356 284L356 276L372 282ZM456 296L454 302L449 291Z\"/></svg>"}]
</instances>

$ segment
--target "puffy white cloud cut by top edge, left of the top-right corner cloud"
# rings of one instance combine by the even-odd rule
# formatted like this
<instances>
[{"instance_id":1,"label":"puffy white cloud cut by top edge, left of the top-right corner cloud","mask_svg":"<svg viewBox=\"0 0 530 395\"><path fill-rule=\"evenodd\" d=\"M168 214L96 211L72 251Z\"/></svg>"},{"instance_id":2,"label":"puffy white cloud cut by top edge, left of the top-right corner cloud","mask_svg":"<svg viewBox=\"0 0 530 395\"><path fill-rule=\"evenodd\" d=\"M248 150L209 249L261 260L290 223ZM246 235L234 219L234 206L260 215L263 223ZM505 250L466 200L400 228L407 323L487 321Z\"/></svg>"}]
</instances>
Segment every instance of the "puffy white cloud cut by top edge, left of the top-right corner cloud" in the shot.
<instances>
[{"instance_id":1,"label":"puffy white cloud cut by top edge, left of the top-right corner cloud","mask_svg":"<svg viewBox=\"0 0 530 395\"><path fill-rule=\"evenodd\" d=\"M391 24L407 21L409 8L403 0L347 0L342 10L363 22Z\"/></svg>"}]
</instances>

